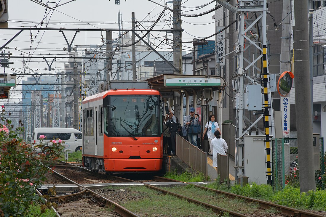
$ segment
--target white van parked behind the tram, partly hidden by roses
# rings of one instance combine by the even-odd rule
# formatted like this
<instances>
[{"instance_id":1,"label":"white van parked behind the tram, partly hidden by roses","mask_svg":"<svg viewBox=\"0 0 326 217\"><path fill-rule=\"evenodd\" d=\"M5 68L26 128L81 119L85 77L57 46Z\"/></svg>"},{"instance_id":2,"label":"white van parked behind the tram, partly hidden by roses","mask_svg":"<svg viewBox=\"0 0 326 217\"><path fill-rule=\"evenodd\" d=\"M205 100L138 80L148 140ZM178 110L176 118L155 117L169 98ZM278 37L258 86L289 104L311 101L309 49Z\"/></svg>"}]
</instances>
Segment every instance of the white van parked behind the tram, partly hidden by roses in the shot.
<instances>
[{"instance_id":1,"label":"white van parked behind the tram, partly hidden by roses","mask_svg":"<svg viewBox=\"0 0 326 217\"><path fill-rule=\"evenodd\" d=\"M61 128L61 127L37 127L33 131L33 140L35 145L40 143L39 137L46 136L43 142L49 142L52 139L61 139L65 141L65 149L68 152L77 152L82 149L82 132L74 128ZM32 140L32 141L33 141ZM40 149L36 150L40 152Z\"/></svg>"}]
</instances>

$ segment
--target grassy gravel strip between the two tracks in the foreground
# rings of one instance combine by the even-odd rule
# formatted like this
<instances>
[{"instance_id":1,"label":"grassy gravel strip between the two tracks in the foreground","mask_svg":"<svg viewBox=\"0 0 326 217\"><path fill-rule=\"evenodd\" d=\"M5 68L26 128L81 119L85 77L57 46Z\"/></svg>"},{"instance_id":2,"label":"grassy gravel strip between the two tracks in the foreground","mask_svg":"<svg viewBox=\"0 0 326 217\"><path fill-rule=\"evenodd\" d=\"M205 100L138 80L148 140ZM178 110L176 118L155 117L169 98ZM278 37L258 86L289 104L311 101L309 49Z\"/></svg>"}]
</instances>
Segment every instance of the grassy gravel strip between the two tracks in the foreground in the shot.
<instances>
[{"instance_id":1,"label":"grassy gravel strip between the two tracks in the foreground","mask_svg":"<svg viewBox=\"0 0 326 217\"><path fill-rule=\"evenodd\" d=\"M108 186L105 189L118 189L121 186ZM188 203L186 200L176 198L172 195L164 195L149 189L145 186L123 187L127 198L121 205L134 213L141 213L141 216L192 216L192 217L210 217L219 216L212 210L205 209L202 206ZM119 196L117 196L119 197ZM227 214L222 215L227 217Z\"/></svg>"}]
</instances>

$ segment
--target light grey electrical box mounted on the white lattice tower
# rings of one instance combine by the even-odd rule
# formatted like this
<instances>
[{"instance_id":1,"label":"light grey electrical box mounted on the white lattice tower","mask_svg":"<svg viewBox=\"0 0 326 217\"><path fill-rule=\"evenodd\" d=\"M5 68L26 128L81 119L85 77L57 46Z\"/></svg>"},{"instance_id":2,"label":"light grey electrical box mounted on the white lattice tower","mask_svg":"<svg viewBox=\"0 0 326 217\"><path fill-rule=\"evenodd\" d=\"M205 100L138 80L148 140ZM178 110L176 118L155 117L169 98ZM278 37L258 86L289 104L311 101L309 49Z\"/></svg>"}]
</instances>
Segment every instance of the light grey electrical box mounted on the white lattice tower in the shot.
<instances>
[{"instance_id":1,"label":"light grey electrical box mounted on the white lattice tower","mask_svg":"<svg viewBox=\"0 0 326 217\"><path fill-rule=\"evenodd\" d=\"M257 84L248 85L246 87L247 98L246 98L246 106L249 111L257 111L261 110L262 103L262 94L261 94L261 86Z\"/></svg>"}]
</instances>

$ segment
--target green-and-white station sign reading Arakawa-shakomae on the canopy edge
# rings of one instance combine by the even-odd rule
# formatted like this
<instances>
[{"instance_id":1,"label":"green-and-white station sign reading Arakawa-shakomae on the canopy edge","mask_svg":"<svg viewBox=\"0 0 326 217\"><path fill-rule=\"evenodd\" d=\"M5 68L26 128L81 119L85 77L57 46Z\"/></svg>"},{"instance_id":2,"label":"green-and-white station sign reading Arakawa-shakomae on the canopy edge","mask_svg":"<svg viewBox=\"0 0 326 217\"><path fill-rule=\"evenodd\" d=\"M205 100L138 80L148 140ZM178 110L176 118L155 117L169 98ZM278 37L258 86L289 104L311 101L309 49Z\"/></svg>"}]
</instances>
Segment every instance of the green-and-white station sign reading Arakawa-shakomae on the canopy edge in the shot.
<instances>
[{"instance_id":1,"label":"green-and-white station sign reading Arakawa-shakomae on the canopy edge","mask_svg":"<svg viewBox=\"0 0 326 217\"><path fill-rule=\"evenodd\" d=\"M205 77L183 77L183 78L168 78L164 80L164 85L168 86L221 86L221 79L219 78L205 78Z\"/></svg>"}]
</instances>

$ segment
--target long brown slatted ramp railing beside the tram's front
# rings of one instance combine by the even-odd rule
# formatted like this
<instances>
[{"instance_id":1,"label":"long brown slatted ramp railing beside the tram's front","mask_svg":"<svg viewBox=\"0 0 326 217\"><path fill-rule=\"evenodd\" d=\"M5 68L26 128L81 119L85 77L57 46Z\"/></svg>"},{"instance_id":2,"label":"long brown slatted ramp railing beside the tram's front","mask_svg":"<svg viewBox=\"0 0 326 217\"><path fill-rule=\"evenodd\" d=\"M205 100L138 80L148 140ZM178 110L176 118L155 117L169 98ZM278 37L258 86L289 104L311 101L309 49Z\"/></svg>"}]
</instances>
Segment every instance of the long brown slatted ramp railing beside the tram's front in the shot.
<instances>
[{"instance_id":1,"label":"long brown slatted ramp railing beside the tram's front","mask_svg":"<svg viewBox=\"0 0 326 217\"><path fill-rule=\"evenodd\" d=\"M204 174L207 179L207 153L201 151L178 134L176 134L175 144L176 155L192 169Z\"/></svg>"}]
</instances>

